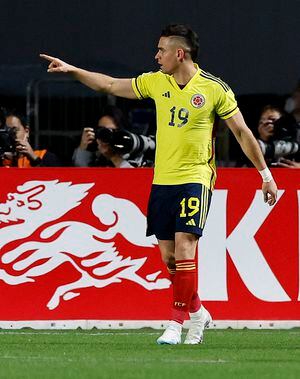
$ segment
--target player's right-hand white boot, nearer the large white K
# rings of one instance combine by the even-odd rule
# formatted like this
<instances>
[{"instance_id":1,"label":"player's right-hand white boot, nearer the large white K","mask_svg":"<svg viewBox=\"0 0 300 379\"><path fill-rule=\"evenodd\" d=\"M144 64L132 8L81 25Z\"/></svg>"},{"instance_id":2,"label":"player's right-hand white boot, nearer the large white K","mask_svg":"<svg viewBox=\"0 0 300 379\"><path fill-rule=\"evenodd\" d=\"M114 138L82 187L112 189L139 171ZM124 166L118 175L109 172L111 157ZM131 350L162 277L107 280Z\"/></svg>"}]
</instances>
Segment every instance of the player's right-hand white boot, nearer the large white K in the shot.
<instances>
[{"instance_id":1,"label":"player's right-hand white boot, nearer the large white K","mask_svg":"<svg viewBox=\"0 0 300 379\"><path fill-rule=\"evenodd\" d=\"M190 313L191 326L185 337L184 344L197 345L203 342L203 332L212 322L210 313L201 305L199 311Z\"/></svg>"}]
</instances>

